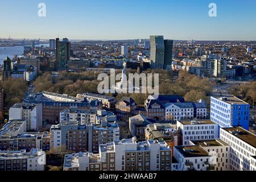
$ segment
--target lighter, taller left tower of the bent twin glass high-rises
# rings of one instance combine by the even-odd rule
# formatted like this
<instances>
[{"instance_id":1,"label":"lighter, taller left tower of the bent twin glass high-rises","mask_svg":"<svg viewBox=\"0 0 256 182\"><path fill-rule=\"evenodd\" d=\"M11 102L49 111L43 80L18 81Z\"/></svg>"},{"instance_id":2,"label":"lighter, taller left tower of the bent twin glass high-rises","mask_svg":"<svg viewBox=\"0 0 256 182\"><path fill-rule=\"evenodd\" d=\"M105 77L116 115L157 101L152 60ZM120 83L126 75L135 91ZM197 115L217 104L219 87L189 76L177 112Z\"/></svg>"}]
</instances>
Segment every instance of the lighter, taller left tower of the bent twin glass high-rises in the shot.
<instances>
[{"instance_id":1,"label":"lighter, taller left tower of the bent twin glass high-rises","mask_svg":"<svg viewBox=\"0 0 256 182\"><path fill-rule=\"evenodd\" d=\"M152 69L164 68L164 39L162 35L150 36L150 60Z\"/></svg>"}]
</instances>

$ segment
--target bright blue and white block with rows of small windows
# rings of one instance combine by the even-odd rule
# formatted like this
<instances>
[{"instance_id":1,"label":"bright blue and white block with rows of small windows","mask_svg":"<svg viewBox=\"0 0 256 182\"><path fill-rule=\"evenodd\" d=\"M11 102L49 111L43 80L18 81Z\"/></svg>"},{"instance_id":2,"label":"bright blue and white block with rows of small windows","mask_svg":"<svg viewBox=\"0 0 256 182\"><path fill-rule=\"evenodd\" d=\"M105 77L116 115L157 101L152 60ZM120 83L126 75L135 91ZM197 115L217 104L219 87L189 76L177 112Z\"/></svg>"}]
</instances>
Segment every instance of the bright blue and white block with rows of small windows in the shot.
<instances>
[{"instance_id":1,"label":"bright blue and white block with rows of small windows","mask_svg":"<svg viewBox=\"0 0 256 182\"><path fill-rule=\"evenodd\" d=\"M220 127L241 126L249 130L249 107L237 97L211 97L210 119Z\"/></svg>"}]
</instances>

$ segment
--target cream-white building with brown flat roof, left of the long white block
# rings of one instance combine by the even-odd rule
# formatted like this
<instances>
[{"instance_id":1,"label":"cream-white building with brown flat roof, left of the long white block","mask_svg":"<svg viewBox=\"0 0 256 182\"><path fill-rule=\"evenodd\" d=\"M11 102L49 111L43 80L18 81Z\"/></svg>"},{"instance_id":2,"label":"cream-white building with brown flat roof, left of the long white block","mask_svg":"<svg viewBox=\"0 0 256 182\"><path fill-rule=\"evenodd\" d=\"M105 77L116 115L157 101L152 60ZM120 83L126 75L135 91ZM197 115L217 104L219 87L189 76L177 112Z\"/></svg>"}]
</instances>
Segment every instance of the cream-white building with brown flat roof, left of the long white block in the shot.
<instances>
[{"instance_id":1,"label":"cream-white building with brown flat roof, left of the long white block","mask_svg":"<svg viewBox=\"0 0 256 182\"><path fill-rule=\"evenodd\" d=\"M230 171L230 146L221 139L190 141L190 145L204 148L212 156L215 171Z\"/></svg>"}]
</instances>

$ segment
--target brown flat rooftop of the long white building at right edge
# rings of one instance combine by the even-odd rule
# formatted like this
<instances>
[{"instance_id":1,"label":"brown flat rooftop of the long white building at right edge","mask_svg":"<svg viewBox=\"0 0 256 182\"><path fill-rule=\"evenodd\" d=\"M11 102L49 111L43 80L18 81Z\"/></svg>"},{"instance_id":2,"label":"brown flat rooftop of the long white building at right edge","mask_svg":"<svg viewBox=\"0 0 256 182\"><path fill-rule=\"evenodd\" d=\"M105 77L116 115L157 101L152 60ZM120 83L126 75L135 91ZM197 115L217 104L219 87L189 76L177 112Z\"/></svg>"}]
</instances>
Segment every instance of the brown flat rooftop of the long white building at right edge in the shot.
<instances>
[{"instance_id":1,"label":"brown flat rooftop of the long white building at right edge","mask_svg":"<svg viewBox=\"0 0 256 182\"><path fill-rule=\"evenodd\" d=\"M222 128L225 131L228 131L229 133L231 133L232 135L234 135L234 137L237 137L241 140L243 140L243 142L246 142L248 144L250 144L251 146L253 146L254 148L256 148L256 135L253 133L250 133L249 131L242 129L241 127L230 127L230 128Z\"/></svg>"}]
</instances>

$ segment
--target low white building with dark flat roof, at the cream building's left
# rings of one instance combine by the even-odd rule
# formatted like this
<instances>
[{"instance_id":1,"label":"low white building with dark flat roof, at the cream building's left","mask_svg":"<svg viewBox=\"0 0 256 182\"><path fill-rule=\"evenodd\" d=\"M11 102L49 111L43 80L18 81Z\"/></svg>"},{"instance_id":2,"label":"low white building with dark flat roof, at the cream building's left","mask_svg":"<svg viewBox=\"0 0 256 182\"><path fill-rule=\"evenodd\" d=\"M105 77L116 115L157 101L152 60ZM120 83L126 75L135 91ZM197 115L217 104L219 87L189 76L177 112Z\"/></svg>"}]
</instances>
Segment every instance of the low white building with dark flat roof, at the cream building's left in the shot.
<instances>
[{"instance_id":1,"label":"low white building with dark flat roof, at the cream building's left","mask_svg":"<svg viewBox=\"0 0 256 182\"><path fill-rule=\"evenodd\" d=\"M176 171L213 171L211 155L201 146L175 146L174 158L177 160Z\"/></svg>"}]
</instances>

